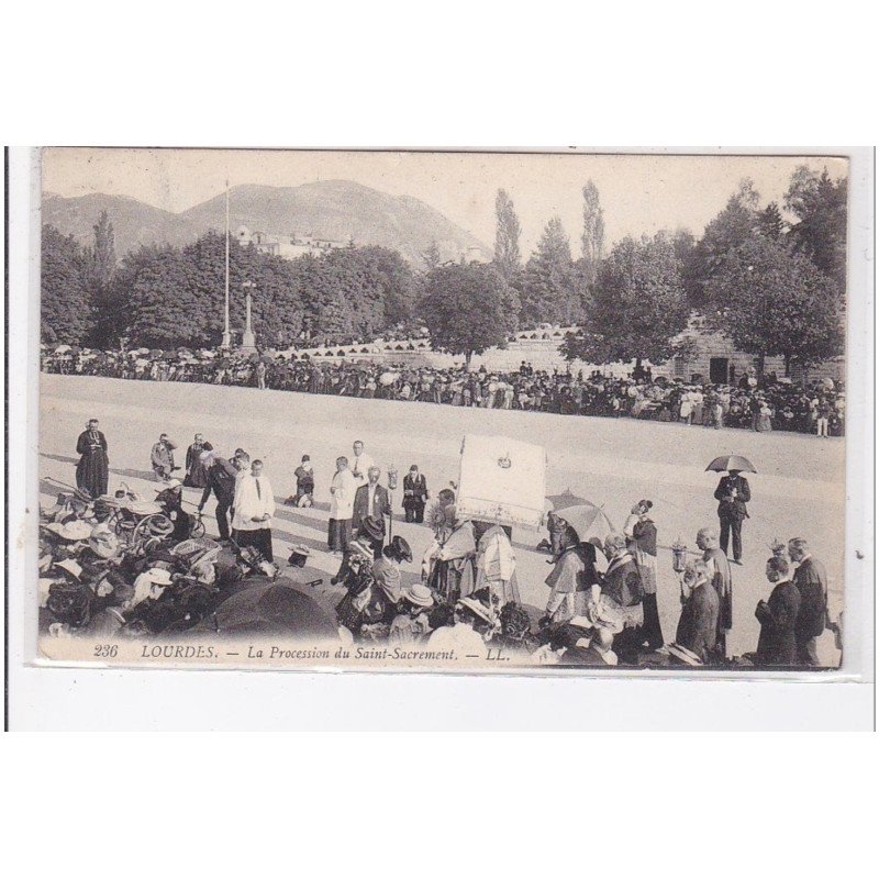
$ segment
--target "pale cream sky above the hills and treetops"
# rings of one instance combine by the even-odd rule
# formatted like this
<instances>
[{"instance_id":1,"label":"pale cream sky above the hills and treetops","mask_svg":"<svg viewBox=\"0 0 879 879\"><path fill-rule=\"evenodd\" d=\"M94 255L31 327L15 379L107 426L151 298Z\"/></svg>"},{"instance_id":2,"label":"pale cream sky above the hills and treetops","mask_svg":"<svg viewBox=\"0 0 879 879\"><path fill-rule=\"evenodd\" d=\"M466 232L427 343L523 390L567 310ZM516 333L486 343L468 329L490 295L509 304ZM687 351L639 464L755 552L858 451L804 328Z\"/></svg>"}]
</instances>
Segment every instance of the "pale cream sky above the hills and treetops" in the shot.
<instances>
[{"instance_id":1,"label":"pale cream sky above the hills and treetops","mask_svg":"<svg viewBox=\"0 0 879 879\"><path fill-rule=\"evenodd\" d=\"M764 204L783 202L798 165L846 176L847 162L821 156L671 156L527 153L319 152L280 149L48 148L43 189L59 196L130 196L178 212L232 186L299 186L355 180L392 196L414 196L491 247L494 197L505 189L527 255L546 222L561 218L580 254L582 187L592 180L604 211L605 243L686 227L701 235L743 177Z\"/></svg>"}]
</instances>

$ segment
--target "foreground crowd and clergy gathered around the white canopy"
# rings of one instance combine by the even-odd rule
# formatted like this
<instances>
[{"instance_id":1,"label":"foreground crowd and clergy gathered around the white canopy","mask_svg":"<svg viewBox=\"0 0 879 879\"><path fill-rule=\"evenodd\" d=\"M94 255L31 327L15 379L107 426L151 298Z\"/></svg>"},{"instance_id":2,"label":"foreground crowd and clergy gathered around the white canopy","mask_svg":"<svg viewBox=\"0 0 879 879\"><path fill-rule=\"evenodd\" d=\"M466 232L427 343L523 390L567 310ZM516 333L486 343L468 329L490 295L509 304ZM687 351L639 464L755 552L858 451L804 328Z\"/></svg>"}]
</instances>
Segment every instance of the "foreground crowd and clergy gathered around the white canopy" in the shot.
<instances>
[{"instance_id":1,"label":"foreground crowd and clergy gathered around the white canopy","mask_svg":"<svg viewBox=\"0 0 879 879\"><path fill-rule=\"evenodd\" d=\"M92 637L308 636L439 658L483 658L497 648L537 665L596 667L814 667L821 665L816 644L825 628L842 636L842 617L830 617L824 566L805 539L794 537L775 546L767 560L768 594L755 608L755 650L732 655L733 577L721 536L728 542L730 520L741 524L746 516L750 494L737 470L721 479L715 493L721 527L700 528L698 555L680 567L680 614L668 638L657 599L658 535L649 500L633 507L621 532L603 537L566 520L564 509L550 514L538 546L549 556L547 598L536 609L521 597L511 528L459 515L454 486L432 499L415 465L404 479L407 518L425 522L433 538L420 577L404 578L412 549L402 536L390 536L382 472L357 441L349 456L336 459L330 486L327 549L340 567L331 579L335 599L322 603L297 579L308 547L292 547L287 572L276 564L275 498L263 463L243 448L222 456L197 434L180 480L174 476L182 469L175 448L167 434L152 448L160 486L155 499L124 485L109 493L107 439L98 422L89 421L77 442L76 491L41 510L44 631ZM308 505L313 498L308 465L305 455L290 504ZM185 510L185 486L202 491L196 513ZM211 496L215 538L198 527ZM733 560L741 561L741 528L733 544Z\"/></svg>"}]
</instances>

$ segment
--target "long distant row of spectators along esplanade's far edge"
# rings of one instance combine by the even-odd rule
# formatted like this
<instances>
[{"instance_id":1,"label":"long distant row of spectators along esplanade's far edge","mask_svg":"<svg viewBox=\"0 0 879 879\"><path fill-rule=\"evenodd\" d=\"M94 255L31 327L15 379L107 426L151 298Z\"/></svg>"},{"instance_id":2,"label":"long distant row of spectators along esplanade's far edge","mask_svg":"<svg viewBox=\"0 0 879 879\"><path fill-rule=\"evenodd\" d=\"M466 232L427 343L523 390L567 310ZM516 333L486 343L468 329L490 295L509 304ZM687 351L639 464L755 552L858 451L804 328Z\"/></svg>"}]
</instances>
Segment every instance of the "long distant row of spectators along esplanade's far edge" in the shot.
<instances>
[{"instance_id":1,"label":"long distant row of spectators along esplanade's far edge","mask_svg":"<svg viewBox=\"0 0 879 879\"><path fill-rule=\"evenodd\" d=\"M43 352L47 372L152 381L193 381L345 397L421 401L566 415L631 416L705 427L743 427L842 436L845 389L823 379L808 386L746 371L735 385L654 377L636 368L625 378L600 370L539 370L523 361L511 372L320 361L302 355L242 356L222 352L90 352L63 345Z\"/></svg>"}]
</instances>

